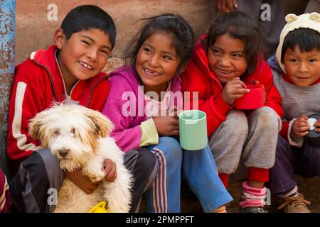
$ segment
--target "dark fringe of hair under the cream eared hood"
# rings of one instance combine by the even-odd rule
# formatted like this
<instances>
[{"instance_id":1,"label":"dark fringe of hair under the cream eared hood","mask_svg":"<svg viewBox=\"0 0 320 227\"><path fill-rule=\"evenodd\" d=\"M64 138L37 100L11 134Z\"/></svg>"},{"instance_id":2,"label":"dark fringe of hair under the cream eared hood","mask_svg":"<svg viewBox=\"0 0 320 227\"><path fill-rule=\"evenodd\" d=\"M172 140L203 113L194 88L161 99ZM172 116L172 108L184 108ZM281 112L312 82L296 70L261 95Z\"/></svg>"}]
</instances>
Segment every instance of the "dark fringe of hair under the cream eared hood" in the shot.
<instances>
[{"instance_id":1,"label":"dark fringe of hair under the cream eared hood","mask_svg":"<svg viewBox=\"0 0 320 227\"><path fill-rule=\"evenodd\" d=\"M287 50L294 50L296 46L301 52L320 51L320 33L311 28L298 28L289 32L283 41L281 62Z\"/></svg>"}]
</instances>

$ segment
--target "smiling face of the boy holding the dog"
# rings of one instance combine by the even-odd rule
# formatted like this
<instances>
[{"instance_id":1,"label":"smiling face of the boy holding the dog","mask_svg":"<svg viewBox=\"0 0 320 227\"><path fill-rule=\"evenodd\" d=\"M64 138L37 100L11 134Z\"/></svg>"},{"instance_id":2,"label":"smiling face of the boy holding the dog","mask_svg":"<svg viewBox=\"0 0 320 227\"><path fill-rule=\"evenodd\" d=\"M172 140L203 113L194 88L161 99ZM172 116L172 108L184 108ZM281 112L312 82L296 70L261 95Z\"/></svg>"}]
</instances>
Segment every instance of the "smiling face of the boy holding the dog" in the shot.
<instances>
[{"instance_id":1,"label":"smiling face of the boy holding the dog","mask_svg":"<svg viewBox=\"0 0 320 227\"><path fill-rule=\"evenodd\" d=\"M89 79L105 67L112 50L109 35L105 32L90 28L73 33L68 40L62 30L55 35L58 35L58 62L65 80Z\"/></svg>"}]
</instances>

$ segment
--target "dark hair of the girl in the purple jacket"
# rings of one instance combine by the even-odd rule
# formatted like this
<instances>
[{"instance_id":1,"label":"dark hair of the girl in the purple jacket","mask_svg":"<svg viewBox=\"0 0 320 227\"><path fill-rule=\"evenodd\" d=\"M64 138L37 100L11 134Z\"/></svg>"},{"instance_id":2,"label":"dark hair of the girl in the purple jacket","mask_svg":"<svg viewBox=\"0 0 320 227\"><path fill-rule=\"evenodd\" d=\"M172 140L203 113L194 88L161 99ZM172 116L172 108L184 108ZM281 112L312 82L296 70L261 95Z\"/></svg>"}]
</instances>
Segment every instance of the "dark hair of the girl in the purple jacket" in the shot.
<instances>
[{"instance_id":1,"label":"dark hair of the girl in the purple jacket","mask_svg":"<svg viewBox=\"0 0 320 227\"><path fill-rule=\"evenodd\" d=\"M159 16L143 18L139 21L144 20L147 20L146 24L137 34L135 42L127 48L126 59L129 59L132 67L135 68L137 55L144 41L154 33L164 32L173 35L172 45L176 48L176 54L181 57L177 72L181 70L191 59L193 53L195 35L191 26L182 16L173 13L164 13Z\"/></svg>"}]
</instances>

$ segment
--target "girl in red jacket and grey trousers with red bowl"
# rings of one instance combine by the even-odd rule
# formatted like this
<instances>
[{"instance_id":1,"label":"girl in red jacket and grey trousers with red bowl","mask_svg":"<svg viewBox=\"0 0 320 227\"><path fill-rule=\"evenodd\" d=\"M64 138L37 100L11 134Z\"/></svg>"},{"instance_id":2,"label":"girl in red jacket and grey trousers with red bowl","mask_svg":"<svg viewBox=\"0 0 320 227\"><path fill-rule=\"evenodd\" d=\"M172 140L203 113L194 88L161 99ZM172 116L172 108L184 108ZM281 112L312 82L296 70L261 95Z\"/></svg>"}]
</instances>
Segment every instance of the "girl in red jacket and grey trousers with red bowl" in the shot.
<instances>
[{"instance_id":1,"label":"girl in red jacket and grey trousers with red bowl","mask_svg":"<svg viewBox=\"0 0 320 227\"><path fill-rule=\"evenodd\" d=\"M198 101L198 109L207 114L210 148L225 187L240 160L247 167L240 201L243 212L265 212L264 184L274 165L281 128L281 99L261 46L260 31L250 16L240 11L222 14L196 43L182 74L183 92L198 92L198 100L185 101L190 101L191 109L197 108L192 104ZM250 92L247 84L264 85L262 108L235 109L235 100Z\"/></svg>"}]
</instances>

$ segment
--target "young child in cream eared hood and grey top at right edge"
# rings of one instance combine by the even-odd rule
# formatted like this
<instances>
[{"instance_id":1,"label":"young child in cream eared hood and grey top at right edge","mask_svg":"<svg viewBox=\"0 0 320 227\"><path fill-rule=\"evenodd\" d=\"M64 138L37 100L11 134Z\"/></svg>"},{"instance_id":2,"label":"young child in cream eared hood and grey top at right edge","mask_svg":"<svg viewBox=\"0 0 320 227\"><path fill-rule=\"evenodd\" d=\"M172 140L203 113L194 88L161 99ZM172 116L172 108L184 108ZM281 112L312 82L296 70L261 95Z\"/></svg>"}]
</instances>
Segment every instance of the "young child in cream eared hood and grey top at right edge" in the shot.
<instances>
[{"instance_id":1,"label":"young child in cream eared hood and grey top at right edge","mask_svg":"<svg viewBox=\"0 0 320 227\"><path fill-rule=\"evenodd\" d=\"M319 119L308 123L308 116L320 114L320 14L285 19L276 55L268 60L284 110L270 188L282 198L279 209L309 213L310 202L299 193L294 174L320 177L320 148L305 139L311 127L320 133Z\"/></svg>"}]
</instances>

